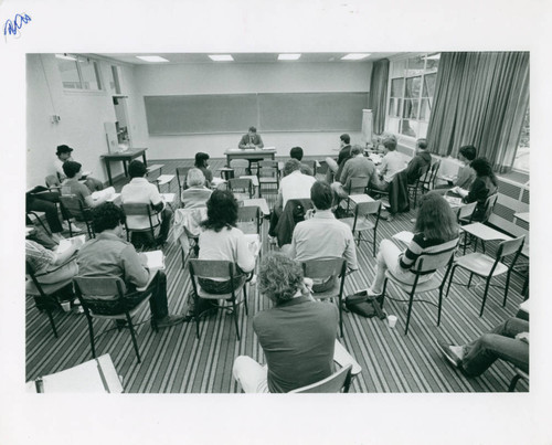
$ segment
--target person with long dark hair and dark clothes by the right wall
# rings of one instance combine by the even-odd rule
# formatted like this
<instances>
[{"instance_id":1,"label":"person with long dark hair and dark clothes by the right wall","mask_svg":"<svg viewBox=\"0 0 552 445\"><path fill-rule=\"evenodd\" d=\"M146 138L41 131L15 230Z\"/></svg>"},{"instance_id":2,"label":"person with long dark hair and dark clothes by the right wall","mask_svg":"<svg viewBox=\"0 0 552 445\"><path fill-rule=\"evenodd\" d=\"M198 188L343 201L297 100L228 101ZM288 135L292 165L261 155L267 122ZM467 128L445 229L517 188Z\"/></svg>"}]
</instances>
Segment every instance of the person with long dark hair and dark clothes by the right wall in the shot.
<instances>
[{"instance_id":1,"label":"person with long dark hair and dark clothes by the right wall","mask_svg":"<svg viewBox=\"0 0 552 445\"><path fill-rule=\"evenodd\" d=\"M492 166L486 158L475 159L470 167L476 171L476 179L471 183L469 191L458 187L453 189L453 191L458 193L463 198L463 202L467 204L477 201L477 206L471 218L471 221L476 222L485 219L485 213L487 212L485 203L487 198L498 191L498 182L492 171Z\"/></svg>"}]
</instances>

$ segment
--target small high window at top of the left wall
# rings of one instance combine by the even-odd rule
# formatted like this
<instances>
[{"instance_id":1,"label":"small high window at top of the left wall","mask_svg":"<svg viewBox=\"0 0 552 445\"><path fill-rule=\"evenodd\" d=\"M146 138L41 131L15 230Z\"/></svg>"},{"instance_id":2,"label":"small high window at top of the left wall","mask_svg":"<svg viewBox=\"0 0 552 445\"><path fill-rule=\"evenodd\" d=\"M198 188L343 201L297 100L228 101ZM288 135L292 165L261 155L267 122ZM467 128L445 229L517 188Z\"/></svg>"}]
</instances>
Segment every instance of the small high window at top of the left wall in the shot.
<instances>
[{"instance_id":1,"label":"small high window at top of the left wall","mask_svg":"<svg viewBox=\"0 0 552 445\"><path fill-rule=\"evenodd\" d=\"M65 89L102 91L97 61L73 54L55 54Z\"/></svg>"}]
</instances>

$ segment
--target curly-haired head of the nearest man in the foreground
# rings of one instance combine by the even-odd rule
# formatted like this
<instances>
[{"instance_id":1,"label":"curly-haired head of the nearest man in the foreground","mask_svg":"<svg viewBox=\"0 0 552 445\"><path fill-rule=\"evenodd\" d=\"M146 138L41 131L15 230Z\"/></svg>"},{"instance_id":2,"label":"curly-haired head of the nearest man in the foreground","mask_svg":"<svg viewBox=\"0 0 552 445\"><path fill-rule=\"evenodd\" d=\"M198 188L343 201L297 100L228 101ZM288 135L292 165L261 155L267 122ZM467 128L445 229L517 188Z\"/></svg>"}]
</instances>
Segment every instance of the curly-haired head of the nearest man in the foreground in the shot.
<instances>
[{"instance_id":1,"label":"curly-haired head of the nearest man in the foreground","mask_svg":"<svg viewBox=\"0 0 552 445\"><path fill-rule=\"evenodd\" d=\"M280 253L269 253L261 263L258 290L276 305L289 301L302 292L302 267Z\"/></svg>"}]
</instances>

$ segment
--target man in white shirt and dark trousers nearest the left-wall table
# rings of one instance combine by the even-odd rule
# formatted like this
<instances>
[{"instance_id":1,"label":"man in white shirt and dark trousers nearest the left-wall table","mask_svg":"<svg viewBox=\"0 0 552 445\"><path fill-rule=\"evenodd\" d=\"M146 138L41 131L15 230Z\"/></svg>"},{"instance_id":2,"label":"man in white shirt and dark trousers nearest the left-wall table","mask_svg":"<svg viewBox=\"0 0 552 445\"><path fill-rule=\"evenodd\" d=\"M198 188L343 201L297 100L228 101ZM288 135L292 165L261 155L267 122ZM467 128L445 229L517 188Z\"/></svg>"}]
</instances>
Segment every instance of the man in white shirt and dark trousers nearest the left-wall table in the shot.
<instances>
[{"instance_id":1,"label":"man in white shirt and dark trousers nearest the left-wall table","mask_svg":"<svg viewBox=\"0 0 552 445\"><path fill-rule=\"evenodd\" d=\"M146 179L147 172L148 170L144 162L139 160L130 162L128 166L128 174L131 179L120 191L120 200L124 204L151 204L153 211L157 212L157 215L153 218L160 220L159 222L161 224L159 236L156 241L157 244L164 244L171 227L172 210L169 205L166 205L157 187ZM149 219L147 215L128 216L127 226L129 229L148 229Z\"/></svg>"}]
</instances>

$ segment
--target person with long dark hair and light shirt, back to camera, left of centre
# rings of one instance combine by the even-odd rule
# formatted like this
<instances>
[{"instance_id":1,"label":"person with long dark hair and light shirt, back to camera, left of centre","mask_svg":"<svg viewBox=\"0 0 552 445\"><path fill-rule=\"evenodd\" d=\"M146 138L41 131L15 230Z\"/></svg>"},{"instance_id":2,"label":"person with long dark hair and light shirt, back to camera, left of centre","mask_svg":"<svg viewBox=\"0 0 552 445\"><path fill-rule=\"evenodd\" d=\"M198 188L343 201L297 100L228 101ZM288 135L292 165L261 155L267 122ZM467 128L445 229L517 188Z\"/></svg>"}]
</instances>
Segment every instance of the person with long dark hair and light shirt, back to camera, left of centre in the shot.
<instances>
[{"instance_id":1,"label":"person with long dark hair and light shirt, back to camera, left of centre","mask_svg":"<svg viewBox=\"0 0 552 445\"><path fill-rule=\"evenodd\" d=\"M201 223L199 259L224 259L237 264L234 289L255 268L255 256L243 232L236 227L237 201L229 190L215 190L206 202L208 219ZM237 278L237 279L236 279ZM210 294L232 292L230 280L199 278L200 286Z\"/></svg>"}]
</instances>

